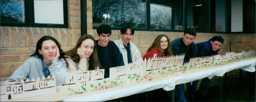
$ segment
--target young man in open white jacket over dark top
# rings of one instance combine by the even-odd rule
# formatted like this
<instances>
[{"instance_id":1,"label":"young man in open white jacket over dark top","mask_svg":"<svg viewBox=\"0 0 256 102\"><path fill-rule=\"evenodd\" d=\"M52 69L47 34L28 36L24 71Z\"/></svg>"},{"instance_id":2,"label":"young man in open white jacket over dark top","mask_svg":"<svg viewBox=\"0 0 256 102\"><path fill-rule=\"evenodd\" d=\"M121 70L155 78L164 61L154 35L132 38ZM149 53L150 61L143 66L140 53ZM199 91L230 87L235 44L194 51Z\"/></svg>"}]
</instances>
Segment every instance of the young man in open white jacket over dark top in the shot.
<instances>
[{"instance_id":1,"label":"young man in open white jacket over dark top","mask_svg":"<svg viewBox=\"0 0 256 102\"><path fill-rule=\"evenodd\" d=\"M124 65L142 61L139 49L131 42L133 34L133 27L131 25L126 25L121 28L121 38L114 41L123 55Z\"/></svg>"}]
</instances>

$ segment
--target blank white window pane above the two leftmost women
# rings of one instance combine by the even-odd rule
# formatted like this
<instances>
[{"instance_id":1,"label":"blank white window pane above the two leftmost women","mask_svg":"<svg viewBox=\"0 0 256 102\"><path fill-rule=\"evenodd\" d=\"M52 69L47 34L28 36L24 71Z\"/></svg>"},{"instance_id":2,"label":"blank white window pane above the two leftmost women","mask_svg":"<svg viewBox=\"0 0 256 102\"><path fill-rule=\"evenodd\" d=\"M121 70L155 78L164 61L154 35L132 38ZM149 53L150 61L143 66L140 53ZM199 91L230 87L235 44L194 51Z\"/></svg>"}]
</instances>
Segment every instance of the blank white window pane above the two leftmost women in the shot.
<instances>
[{"instance_id":1,"label":"blank white window pane above the two leftmost women","mask_svg":"<svg viewBox=\"0 0 256 102\"><path fill-rule=\"evenodd\" d=\"M64 24L63 0L34 0L35 23Z\"/></svg>"}]
</instances>

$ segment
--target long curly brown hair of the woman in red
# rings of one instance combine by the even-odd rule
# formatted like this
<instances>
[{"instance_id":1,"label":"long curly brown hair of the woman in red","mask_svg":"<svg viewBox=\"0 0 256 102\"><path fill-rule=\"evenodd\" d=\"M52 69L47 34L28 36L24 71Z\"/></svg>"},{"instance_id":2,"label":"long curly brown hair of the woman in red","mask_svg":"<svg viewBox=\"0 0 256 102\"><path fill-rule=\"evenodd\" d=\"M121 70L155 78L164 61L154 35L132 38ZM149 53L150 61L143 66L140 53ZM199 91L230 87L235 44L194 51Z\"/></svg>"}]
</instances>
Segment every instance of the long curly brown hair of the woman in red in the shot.
<instances>
[{"instance_id":1,"label":"long curly brown hair of the woman in red","mask_svg":"<svg viewBox=\"0 0 256 102\"><path fill-rule=\"evenodd\" d=\"M168 36L165 35L165 34L158 35L156 37L156 39L154 40L154 42L152 43L152 45L148 48L148 51L151 51L155 47L159 52L159 56L162 56L161 48L160 48L160 43L161 43L160 39L162 37L166 37L167 38L167 43L168 43L168 46L165 49L164 55L165 56L171 56L172 55L172 44L171 44L170 39L168 38Z\"/></svg>"}]
</instances>

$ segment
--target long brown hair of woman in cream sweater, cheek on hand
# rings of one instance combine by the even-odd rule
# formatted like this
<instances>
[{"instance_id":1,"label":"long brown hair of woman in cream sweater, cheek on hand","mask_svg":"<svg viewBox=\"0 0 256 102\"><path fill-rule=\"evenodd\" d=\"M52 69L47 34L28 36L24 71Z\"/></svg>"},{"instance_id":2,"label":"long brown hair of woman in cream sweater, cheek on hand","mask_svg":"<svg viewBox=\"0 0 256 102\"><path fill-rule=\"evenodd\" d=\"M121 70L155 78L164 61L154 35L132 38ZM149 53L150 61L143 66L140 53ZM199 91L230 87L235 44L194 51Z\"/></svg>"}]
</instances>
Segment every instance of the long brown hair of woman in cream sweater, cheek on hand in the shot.
<instances>
[{"instance_id":1,"label":"long brown hair of woman in cream sweater, cheek on hand","mask_svg":"<svg viewBox=\"0 0 256 102\"><path fill-rule=\"evenodd\" d=\"M99 59L98 59L98 55L97 55L95 40L92 37L92 35L85 34L85 35L80 36L80 38L78 39L78 41L76 43L76 46L73 49L65 52L68 55L66 58L71 58L74 62L78 63L80 61L80 57L77 54L77 49L81 45L81 43L86 39L92 39L94 42L93 52L92 52L91 56L89 57L89 59L90 59L89 60L89 70L95 70L95 69L97 69L97 67L100 68L100 64L99 64ZM67 67L68 67L68 62L67 62Z\"/></svg>"}]
</instances>

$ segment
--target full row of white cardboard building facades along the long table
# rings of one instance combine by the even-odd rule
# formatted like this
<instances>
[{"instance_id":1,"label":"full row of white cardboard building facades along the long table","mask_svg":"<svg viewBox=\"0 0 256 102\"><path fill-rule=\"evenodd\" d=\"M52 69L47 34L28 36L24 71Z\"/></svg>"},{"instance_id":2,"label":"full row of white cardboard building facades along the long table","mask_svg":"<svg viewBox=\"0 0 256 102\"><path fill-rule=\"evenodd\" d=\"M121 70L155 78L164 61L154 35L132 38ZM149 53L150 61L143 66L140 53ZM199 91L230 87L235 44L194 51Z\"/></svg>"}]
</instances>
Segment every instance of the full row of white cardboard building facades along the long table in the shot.
<instances>
[{"instance_id":1,"label":"full row of white cardboard building facades along the long table","mask_svg":"<svg viewBox=\"0 0 256 102\"><path fill-rule=\"evenodd\" d=\"M86 72L77 72L70 73L66 75L66 83L56 87L56 79L54 76L52 78L48 76L47 78L43 77L42 79L37 78L36 80L33 78L31 81L27 79L25 82L21 80L17 82L13 81L2 81L1 84L1 101L9 101L20 98L27 98L42 94L53 93L57 91L64 91L69 89L78 89L83 87L88 87L91 85L97 86L99 83L106 82L119 82L127 80L128 76L140 76L143 78L147 76L149 73L158 73L163 74L164 72L174 73L174 71L186 71L186 68L200 67L205 65L219 64L220 62L228 63L228 61L240 61L246 60L248 58L255 58L256 51L242 51L240 53L228 52L225 55L215 55L215 56L207 56L207 57L199 57L199 58L191 58L189 63L183 64L184 55L179 56L171 56L171 57L163 57L157 58L154 56L152 59L148 59L145 61L138 61L135 63L130 63L127 66L120 67L112 67L109 68L110 76L109 78L104 79L104 69L100 70L91 70ZM214 67L213 67L214 68ZM192 68L193 69L193 68ZM163 73L162 73L163 72ZM177 74L176 74L177 76ZM127 84L127 83L126 83ZM129 83L128 83L129 84ZM107 89L108 86L116 87L116 85L111 83L102 84L101 89ZM99 86L99 85L98 85ZM118 86L118 85L117 85ZM122 84L123 86L123 84ZM95 90L97 88L95 87ZM98 88L97 90L100 90ZM79 92L78 92L79 93ZM81 93L81 92L80 92ZM83 93L83 92L82 92Z\"/></svg>"}]
</instances>

